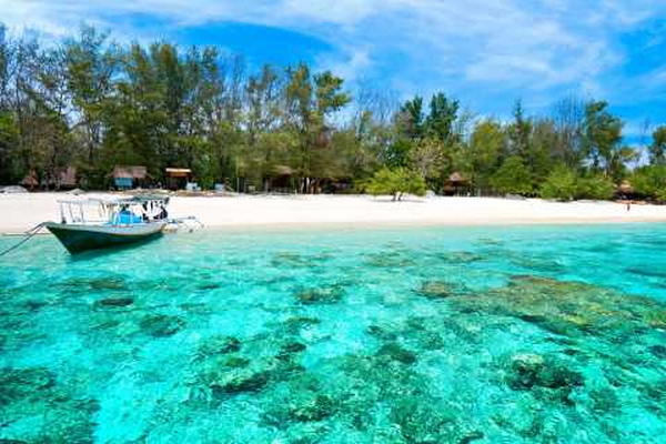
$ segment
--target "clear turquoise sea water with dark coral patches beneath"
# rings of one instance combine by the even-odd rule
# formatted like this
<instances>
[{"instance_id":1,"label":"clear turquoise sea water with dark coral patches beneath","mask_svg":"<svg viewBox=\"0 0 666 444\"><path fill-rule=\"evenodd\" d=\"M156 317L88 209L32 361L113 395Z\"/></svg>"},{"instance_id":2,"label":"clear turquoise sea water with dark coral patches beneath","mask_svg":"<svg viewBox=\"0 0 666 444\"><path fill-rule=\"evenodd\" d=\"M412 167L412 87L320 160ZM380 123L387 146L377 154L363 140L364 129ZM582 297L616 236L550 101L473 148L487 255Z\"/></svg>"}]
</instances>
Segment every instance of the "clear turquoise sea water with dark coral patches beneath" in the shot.
<instances>
[{"instance_id":1,"label":"clear turquoise sea water with dark coral patches beneath","mask_svg":"<svg viewBox=\"0 0 666 444\"><path fill-rule=\"evenodd\" d=\"M666 442L665 251L662 224L34 239L0 258L0 443Z\"/></svg>"}]
</instances>

